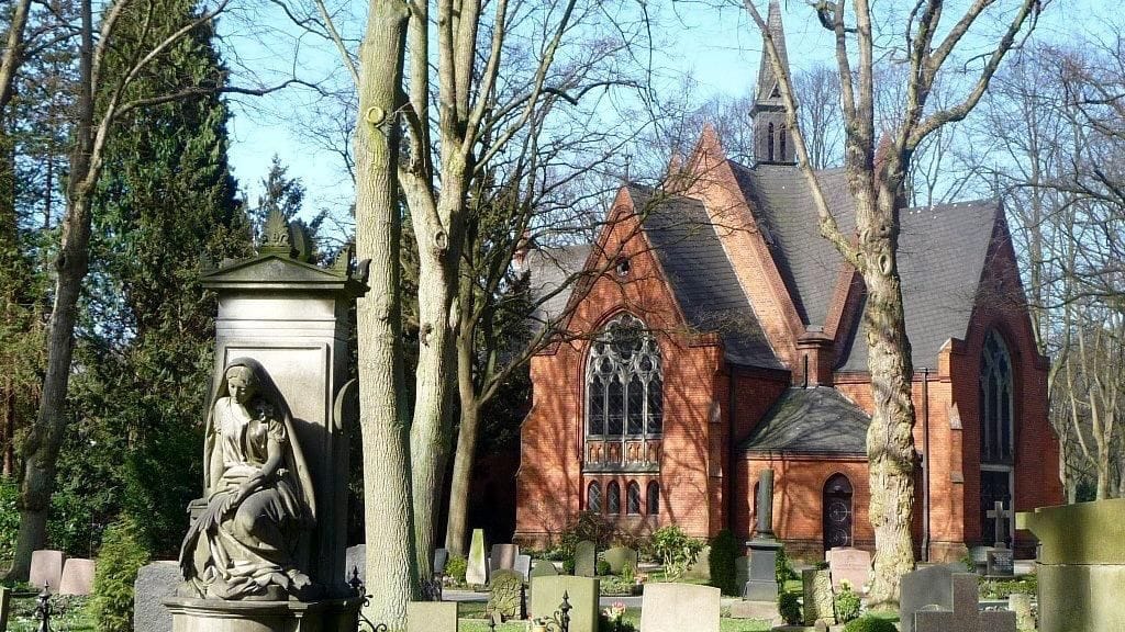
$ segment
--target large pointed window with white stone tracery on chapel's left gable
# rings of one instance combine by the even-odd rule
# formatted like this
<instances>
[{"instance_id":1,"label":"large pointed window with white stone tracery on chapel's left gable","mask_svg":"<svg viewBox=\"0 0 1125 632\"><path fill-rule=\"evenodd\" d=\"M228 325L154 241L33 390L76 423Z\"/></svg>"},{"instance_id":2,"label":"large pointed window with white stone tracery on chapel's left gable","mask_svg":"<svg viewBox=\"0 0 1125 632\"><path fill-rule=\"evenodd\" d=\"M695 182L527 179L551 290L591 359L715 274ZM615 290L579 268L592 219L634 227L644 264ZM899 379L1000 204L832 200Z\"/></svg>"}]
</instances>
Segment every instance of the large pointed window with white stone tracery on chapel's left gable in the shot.
<instances>
[{"instance_id":1,"label":"large pointed window with white stone tracery on chapel's left gable","mask_svg":"<svg viewBox=\"0 0 1125 632\"><path fill-rule=\"evenodd\" d=\"M614 318L590 345L586 434L647 439L663 431L660 347L644 323Z\"/></svg>"}]
</instances>

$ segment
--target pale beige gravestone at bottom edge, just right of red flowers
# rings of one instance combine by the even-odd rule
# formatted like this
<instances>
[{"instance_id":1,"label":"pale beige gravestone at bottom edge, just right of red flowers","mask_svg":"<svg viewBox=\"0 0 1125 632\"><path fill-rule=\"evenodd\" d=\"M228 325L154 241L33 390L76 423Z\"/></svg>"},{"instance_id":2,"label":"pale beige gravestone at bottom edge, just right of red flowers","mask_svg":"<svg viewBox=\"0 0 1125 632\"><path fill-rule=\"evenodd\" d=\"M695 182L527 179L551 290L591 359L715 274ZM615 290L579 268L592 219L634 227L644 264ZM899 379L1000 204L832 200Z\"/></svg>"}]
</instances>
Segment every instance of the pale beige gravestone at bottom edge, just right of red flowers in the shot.
<instances>
[{"instance_id":1,"label":"pale beige gravestone at bottom edge, just right of red flowers","mask_svg":"<svg viewBox=\"0 0 1125 632\"><path fill-rule=\"evenodd\" d=\"M645 632L719 632L720 590L695 584L645 585L640 629Z\"/></svg>"}]
</instances>

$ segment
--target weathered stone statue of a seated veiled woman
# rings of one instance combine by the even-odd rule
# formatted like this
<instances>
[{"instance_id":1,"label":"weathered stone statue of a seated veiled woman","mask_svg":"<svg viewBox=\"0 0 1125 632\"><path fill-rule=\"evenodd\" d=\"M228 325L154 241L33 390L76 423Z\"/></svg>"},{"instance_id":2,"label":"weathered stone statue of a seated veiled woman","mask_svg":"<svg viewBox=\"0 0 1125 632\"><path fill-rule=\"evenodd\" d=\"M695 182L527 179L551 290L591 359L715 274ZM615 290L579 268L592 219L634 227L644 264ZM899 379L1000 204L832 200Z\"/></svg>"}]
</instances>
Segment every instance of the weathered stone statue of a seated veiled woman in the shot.
<instances>
[{"instance_id":1,"label":"weathered stone statue of a seated veiled woman","mask_svg":"<svg viewBox=\"0 0 1125 632\"><path fill-rule=\"evenodd\" d=\"M186 596L306 599L304 534L316 505L285 399L261 364L232 361L207 412L207 506L180 550Z\"/></svg>"}]
</instances>

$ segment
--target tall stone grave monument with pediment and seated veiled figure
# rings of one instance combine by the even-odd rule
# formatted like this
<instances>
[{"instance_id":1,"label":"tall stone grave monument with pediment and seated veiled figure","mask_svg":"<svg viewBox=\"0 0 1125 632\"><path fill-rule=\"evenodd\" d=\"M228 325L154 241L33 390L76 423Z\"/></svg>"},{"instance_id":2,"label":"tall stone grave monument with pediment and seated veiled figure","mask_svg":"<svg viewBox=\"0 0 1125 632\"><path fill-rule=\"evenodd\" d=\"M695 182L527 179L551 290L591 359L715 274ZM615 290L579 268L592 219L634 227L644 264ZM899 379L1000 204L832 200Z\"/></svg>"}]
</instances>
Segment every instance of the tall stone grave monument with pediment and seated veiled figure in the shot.
<instances>
[{"instance_id":1,"label":"tall stone grave monument with pediment and seated veiled figure","mask_svg":"<svg viewBox=\"0 0 1125 632\"><path fill-rule=\"evenodd\" d=\"M259 254L202 277L218 294L204 497L189 507L177 632L354 630L345 583L350 258L321 268L277 211Z\"/></svg>"}]
</instances>

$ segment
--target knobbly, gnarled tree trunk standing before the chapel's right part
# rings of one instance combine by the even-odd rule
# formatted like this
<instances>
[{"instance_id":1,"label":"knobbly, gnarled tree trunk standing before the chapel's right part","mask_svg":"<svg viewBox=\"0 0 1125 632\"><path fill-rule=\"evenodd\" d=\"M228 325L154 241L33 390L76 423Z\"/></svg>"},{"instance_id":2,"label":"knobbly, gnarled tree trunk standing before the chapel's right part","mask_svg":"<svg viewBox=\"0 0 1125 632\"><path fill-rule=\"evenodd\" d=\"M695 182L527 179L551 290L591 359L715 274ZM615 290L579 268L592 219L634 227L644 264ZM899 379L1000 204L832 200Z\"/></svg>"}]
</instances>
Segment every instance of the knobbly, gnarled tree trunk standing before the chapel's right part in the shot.
<instances>
[{"instance_id":1,"label":"knobbly, gnarled tree trunk standing before the chapel's right part","mask_svg":"<svg viewBox=\"0 0 1125 632\"><path fill-rule=\"evenodd\" d=\"M865 200L857 197L856 215ZM870 206L870 200L867 201ZM871 523L875 530L874 572L868 603L875 608L896 608L899 578L914 570L915 409L910 398L914 369L906 335L902 288L896 261L898 225L891 220L891 201L881 200L872 218L861 226L885 227L863 231L861 243L867 287L863 318L867 329L867 370L874 414L867 428L867 463L871 486Z\"/></svg>"}]
</instances>

